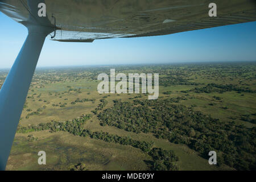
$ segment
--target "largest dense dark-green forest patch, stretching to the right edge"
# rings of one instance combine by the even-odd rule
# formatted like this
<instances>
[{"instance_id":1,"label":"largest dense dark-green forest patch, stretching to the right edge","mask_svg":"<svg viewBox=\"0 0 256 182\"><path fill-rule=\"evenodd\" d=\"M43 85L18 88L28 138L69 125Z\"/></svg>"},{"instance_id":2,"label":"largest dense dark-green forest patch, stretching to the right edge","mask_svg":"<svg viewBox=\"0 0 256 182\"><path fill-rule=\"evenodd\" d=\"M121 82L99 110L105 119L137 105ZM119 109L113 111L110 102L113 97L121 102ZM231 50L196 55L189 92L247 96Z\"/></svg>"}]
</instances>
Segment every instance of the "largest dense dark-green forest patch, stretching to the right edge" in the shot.
<instances>
[{"instance_id":1,"label":"largest dense dark-green forest patch, stretching to the right edge","mask_svg":"<svg viewBox=\"0 0 256 182\"><path fill-rule=\"evenodd\" d=\"M135 133L154 133L174 143L187 144L201 156L218 151L218 164L236 169L256 169L255 130L166 100L115 101L114 107L98 114L102 125Z\"/></svg>"}]
</instances>

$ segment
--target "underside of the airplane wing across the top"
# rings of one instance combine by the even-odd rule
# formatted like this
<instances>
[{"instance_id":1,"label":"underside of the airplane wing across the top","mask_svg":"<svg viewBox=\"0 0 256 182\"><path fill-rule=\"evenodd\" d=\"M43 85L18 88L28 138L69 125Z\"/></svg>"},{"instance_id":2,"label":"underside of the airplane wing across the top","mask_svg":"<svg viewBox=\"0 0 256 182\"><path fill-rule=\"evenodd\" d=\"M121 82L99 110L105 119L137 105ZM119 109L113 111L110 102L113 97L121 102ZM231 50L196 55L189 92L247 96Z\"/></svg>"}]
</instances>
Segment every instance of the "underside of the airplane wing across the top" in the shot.
<instances>
[{"instance_id":1,"label":"underside of the airplane wing across the top","mask_svg":"<svg viewBox=\"0 0 256 182\"><path fill-rule=\"evenodd\" d=\"M56 26L53 40L93 42L225 26L256 20L255 0L46 0L47 17ZM209 4L217 16L209 17ZM25 0L2 0L0 10L22 23L31 14Z\"/></svg>"}]
</instances>

